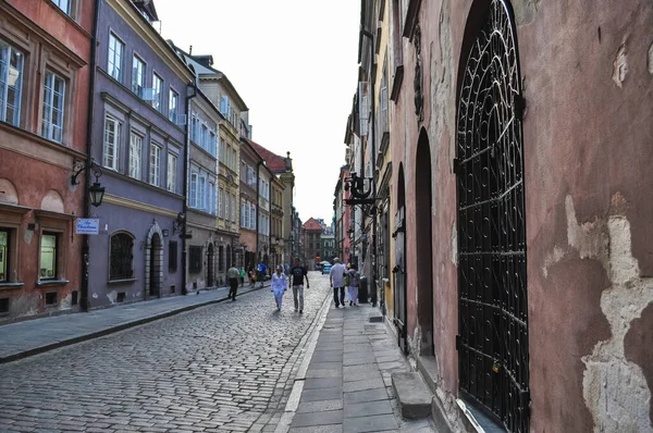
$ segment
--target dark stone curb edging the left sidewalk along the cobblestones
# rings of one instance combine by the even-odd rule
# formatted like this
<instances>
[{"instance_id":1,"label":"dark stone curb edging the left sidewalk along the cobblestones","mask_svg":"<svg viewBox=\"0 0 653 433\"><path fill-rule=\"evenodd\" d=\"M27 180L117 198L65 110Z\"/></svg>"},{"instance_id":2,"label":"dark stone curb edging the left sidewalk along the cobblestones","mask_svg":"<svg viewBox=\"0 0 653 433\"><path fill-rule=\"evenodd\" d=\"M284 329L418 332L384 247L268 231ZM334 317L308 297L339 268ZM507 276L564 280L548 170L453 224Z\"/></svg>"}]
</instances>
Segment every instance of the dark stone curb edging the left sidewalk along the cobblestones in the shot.
<instances>
[{"instance_id":1,"label":"dark stone curb edging the left sidewalk along the cobblestones","mask_svg":"<svg viewBox=\"0 0 653 433\"><path fill-rule=\"evenodd\" d=\"M245 290L238 290L241 293L238 295L236 295L236 296L243 296L243 295L246 295L248 293L260 290L261 288L266 288L266 287L269 287L269 286L263 285L262 287L254 287L254 288L248 287L248 290L246 290L246 292ZM186 295L186 296L189 296L189 295ZM88 333L88 334L85 334L85 335L79 335L79 336L75 336L75 337L71 337L71 338L61 339L61 341L58 341L58 342L54 342L54 343L51 343L51 344L46 344L44 346L39 346L39 347L32 348L32 349L27 349L27 350L24 350L24 351L21 351L21 352L17 352L17 354L12 354L12 355L8 355L5 357L0 357L0 364L8 363L8 362L13 362L13 361L17 361L20 359L25 359L25 358L28 358L28 357L32 357L32 356L35 356L35 355L44 354L46 351L58 349L60 347L70 346L70 345L73 345L73 344L76 344L76 343L82 343L82 342L86 342L86 341L89 341L89 339L99 338L99 337L102 337L102 336L106 336L106 335L109 335L109 334L113 334L113 333L116 333L116 332L120 332L120 331L127 330L130 327L135 327L135 326L141 325L141 324L145 324L145 323L149 323L149 322L153 322L153 321L157 321L157 320L160 320L160 319L169 318L171 316L180 314L182 312L195 310L195 309L200 308L200 307L206 307L206 306L209 306L209 305L212 305L212 304L223 302L226 299L227 299L226 297L221 297L221 298L218 298L218 299L211 299L211 300L207 300L207 301L194 304L194 305L190 305L190 306L180 307L180 308L176 308L176 309L173 308L173 309L171 309L169 311L165 311L165 312L162 312L162 313L159 313L159 314L153 314L153 316L150 316L150 317L147 317L147 318L136 319L136 320L133 320L133 321L130 321L130 322L120 323L120 324L118 324L115 326L109 326L109 327L107 327L104 330L101 330L101 331L96 331L96 332L91 332L91 333ZM84 314L84 313L83 312L78 312L78 313L75 313L75 314Z\"/></svg>"}]
</instances>

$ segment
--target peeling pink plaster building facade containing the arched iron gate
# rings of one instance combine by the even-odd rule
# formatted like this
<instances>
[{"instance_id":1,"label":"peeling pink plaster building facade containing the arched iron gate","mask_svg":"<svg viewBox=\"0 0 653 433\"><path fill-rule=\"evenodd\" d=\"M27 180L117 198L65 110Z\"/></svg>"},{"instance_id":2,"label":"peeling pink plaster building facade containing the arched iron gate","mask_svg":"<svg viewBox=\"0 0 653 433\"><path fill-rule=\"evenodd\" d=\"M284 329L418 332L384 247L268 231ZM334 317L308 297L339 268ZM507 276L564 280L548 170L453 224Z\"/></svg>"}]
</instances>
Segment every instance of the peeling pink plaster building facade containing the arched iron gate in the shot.
<instances>
[{"instance_id":1,"label":"peeling pink plaster building facade containing the arched iron gate","mask_svg":"<svg viewBox=\"0 0 653 433\"><path fill-rule=\"evenodd\" d=\"M438 428L650 431L653 5L361 7L359 89L386 67L391 100L389 319ZM381 101L359 101L353 135L382 149Z\"/></svg>"}]
</instances>

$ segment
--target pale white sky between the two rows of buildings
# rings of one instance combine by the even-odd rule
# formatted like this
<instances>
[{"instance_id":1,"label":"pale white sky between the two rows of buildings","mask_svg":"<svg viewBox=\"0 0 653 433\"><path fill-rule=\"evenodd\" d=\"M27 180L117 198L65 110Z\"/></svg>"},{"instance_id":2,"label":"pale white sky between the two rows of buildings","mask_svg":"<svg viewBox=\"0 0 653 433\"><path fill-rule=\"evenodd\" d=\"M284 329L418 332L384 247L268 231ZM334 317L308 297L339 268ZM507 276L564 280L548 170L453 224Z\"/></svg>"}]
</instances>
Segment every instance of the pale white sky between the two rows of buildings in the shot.
<instances>
[{"instance_id":1,"label":"pale white sky between the two rows of buildings","mask_svg":"<svg viewBox=\"0 0 653 433\"><path fill-rule=\"evenodd\" d=\"M155 0L161 35L212 54L249 108L252 139L293 158L303 222L331 222L358 78L356 0Z\"/></svg>"}]
</instances>

